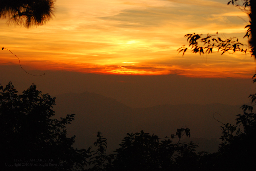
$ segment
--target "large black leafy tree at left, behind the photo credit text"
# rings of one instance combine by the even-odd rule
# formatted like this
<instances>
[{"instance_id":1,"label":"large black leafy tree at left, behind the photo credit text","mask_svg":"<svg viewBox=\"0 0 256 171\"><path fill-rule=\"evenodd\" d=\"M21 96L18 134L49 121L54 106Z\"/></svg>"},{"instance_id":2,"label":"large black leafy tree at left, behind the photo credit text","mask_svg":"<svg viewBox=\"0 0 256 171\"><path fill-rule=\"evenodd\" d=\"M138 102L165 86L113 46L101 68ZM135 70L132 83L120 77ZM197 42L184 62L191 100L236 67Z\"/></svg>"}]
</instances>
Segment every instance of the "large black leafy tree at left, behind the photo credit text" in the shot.
<instances>
[{"instance_id":1,"label":"large black leafy tree at left, behind the photo credit text","mask_svg":"<svg viewBox=\"0 0 256 171\"><path fill-rule=\"evenodd\" d=\"M74 149L75 135L67 138L65 129L75 114L51 119L55 97L41 94L34 84L17 93L11 81L5 88L0 84L1 170L82 170L90 148ZM29 165L17 166L22 163Z\"/></svg>"}]
</instances>

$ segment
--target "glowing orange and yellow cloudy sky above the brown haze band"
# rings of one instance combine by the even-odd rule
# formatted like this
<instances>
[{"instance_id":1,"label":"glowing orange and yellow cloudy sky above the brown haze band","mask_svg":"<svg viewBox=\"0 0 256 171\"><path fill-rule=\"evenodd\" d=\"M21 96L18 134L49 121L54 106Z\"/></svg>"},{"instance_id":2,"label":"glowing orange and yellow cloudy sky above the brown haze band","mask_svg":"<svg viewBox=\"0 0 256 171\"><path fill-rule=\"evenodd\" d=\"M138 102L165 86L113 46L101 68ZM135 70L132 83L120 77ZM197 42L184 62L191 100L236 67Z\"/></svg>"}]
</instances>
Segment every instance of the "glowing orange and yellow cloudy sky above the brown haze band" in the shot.
<instances>
[{"instance_id":1,"label":"glowing orange and yellow cloudy sky above the brown haze band","mask_svg":"<svg viewBox=\"0 0 256 171\"><path fill-rule=\"evenodd\" d=\"M193 32L218 31L247 43L242 37L248 17L226 3L57 0L55 18L44 26L25 29L0 20L0 46L15 53L25 70L250 78L255 61L249 54L177 54L184 35ZM0 55L1 65L18 64L8 51Z\"/></svg>"}]
</instances>

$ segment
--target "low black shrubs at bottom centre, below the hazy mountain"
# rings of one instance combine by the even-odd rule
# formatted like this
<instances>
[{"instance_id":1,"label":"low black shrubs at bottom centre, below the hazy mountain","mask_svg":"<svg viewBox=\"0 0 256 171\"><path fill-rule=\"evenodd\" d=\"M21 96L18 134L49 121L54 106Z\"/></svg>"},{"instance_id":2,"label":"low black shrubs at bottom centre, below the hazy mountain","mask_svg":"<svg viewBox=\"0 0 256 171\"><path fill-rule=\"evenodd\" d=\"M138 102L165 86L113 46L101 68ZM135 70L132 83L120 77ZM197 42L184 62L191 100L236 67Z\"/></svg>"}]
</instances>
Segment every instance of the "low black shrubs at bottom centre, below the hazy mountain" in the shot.
<instances>
[{"instance_id":1,"label":"low black shrubs at bottom centre, below the hazy mountain","mask_svg":"<svg viewBox=\"0 0 256 171\"><path fill-rule=\"evenodd\" d=\"M143 130L126 135L119 144L121 147L114 154L106 155L106 138L98 132L97 141L94 143L97 150L92 151L92 168L88 170L158 171L185 168L186 163L183 162L180 163L181 166L174 166L176 159L194 155L194 149L197 147L192 142L173 143L170 137L159 141L158 136L144 133ZM178 137L180 140L183 135L190 136L188 128L177 129L176 135L172 135L171 138Z\"/></svg>"}]
</instances>

